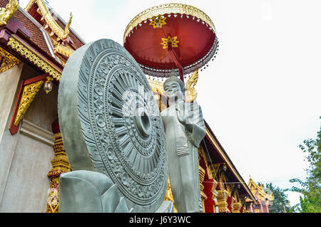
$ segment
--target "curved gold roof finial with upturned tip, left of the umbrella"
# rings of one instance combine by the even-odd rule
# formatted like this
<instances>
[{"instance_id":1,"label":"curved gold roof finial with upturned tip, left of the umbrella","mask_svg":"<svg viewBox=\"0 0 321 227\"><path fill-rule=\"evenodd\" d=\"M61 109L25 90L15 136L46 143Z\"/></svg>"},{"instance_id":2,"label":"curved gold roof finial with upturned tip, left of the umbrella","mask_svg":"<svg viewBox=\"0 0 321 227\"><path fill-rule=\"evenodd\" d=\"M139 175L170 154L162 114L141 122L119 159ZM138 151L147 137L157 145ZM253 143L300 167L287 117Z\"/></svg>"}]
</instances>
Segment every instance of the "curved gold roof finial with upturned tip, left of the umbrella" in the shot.
<instances>
[{"instance_id":1,"label":"curved gold roof finial with upturned tip, left of the umbrella","mask_svg":"<svg viewBox=\"0 0 321 227\"><path fill-rule=\"evenodd\" d=\"M46 4L44 4L43 0L36 0L36 3L39 6L40 12L42 16L44 17L44 20L48 24L48 26L51 28L52 31L58 36L58 38L66 39L69 35L69 27L71 26L71 21L73 19L73 15L70 14L70 18L68 23L66 24L66 28L63 30L61 26L58 25L58 23L55 21L55 19L51 16L49 10L47 9Z\"/></svg>"}]
</instances>

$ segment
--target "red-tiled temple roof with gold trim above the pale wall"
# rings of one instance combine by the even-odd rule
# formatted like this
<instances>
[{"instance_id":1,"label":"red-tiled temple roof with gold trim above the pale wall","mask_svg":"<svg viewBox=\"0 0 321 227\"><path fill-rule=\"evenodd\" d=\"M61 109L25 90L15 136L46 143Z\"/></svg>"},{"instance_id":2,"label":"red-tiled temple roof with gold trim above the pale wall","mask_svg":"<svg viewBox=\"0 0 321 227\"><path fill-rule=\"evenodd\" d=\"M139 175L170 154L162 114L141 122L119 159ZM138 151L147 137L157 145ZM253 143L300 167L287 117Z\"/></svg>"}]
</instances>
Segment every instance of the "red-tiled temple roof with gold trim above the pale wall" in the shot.
<instances>
[{"instance_id":1,"label":"red-tiled temple roof with gold trim above the pale wall","mask_svg":"<svg viewBox=\"0 0 321 227\"><path fill-rule=\"evenodd\" d=\"M71 28L72 16L66 23L43 0L29 1L26 10L17 0L0 0L0 7L5 19L0 27L0 48L8 53L1 57L17 58L60 80L69 56L86 44ZM1 67L0 72L7 69Z\"/></svg>"}]
</instances>

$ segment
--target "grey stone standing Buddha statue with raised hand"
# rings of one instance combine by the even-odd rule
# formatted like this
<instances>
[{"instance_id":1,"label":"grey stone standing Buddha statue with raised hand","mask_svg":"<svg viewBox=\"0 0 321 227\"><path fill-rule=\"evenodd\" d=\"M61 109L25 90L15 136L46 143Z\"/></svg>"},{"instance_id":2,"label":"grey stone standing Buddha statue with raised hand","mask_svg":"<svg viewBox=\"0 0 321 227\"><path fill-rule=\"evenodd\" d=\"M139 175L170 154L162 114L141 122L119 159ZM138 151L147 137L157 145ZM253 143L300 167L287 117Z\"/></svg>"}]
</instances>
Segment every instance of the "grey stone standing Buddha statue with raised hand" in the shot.
<instances>
[{"instance_id":1,"label":"grey stone standing Buddha statue with raised hand","mask_svg":"<svg viewBox=\"0 0 321 227\"><path fill-rule=\"evenodd\" d=\"M165 80L169 107L161 112L168 150L170 188L180 213L202 211L198 147L205 136L200 106L184 102L183 82L173 75Z\"/></svg>"}]
</instances>

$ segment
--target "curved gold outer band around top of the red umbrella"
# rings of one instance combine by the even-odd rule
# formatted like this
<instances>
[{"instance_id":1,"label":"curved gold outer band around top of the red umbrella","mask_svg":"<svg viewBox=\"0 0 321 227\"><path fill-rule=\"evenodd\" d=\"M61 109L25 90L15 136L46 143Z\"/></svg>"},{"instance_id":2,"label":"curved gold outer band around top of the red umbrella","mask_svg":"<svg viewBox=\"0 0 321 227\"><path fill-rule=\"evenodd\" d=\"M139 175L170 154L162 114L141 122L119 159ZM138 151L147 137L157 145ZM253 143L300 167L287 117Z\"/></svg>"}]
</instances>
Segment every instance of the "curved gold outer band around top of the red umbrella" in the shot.
<instances>
[{"instance_id":1,"label":"curved gold outer band around top of the red umbrella","mask_svg":"<svg viewBox=\"0 0 321 227\"><path fill-rule=\"evenodd\" d=\"M159 6L153 6L141 12L137 16L135 16L131 20L131 22L128 23L128 26L126 27L126 30L123 36L123 41L125 42L128 34L131 33L133 28L138 26L139 23L146 21L147 19L151 19L153 18L153 16L160 16L164 14L186 14L190 16L195 16L198 19L201 19L202 21L204 21L205 23L208 23L208 25L212 27L213 30L215 31L215 26L213 21L210 19L208 15L206 15L200 9L190 5L170 3L170 4L162 4Z\"/></svg>"}]
</instances>

